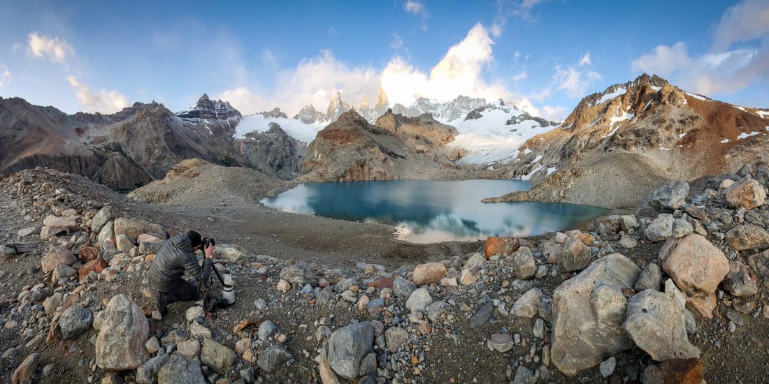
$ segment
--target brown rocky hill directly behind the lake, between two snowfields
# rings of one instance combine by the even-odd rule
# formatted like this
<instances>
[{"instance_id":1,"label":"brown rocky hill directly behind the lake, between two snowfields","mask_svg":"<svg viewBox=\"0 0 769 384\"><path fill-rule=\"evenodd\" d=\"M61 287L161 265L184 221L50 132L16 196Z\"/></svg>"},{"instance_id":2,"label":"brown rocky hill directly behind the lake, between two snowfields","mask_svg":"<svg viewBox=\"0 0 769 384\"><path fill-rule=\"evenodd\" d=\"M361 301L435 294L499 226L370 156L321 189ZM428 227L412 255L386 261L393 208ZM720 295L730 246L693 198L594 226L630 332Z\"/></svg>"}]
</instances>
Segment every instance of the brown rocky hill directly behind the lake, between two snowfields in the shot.
<instances>
[{"instance_id":1,"label":"brown rocky hill directly behind the lake, between two snowfields","mask_svg":"<svg viewBox=\"0 0 769 384\"><path fill-rule=\"evenodd\" d=\"M463 177L444 154L453 127L429 115L404 118L391 111L371 125L348 111L308 146L299 180L428 180ZM468 176L464 176L468 177Z\"/></svg>"}]
</instances>

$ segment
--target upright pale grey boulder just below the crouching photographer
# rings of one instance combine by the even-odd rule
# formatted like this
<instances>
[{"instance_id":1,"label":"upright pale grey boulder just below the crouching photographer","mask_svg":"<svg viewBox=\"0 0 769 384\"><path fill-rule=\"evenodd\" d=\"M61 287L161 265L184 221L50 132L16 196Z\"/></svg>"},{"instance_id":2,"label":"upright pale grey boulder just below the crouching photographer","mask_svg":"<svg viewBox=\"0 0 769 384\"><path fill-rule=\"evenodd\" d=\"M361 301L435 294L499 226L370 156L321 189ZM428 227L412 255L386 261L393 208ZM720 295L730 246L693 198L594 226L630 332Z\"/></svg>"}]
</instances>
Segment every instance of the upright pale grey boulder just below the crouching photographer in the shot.
<instances>
[{"instance_id":1,"label":"upright pale grey boulder just below the crouching photographer","mask_svg":"<svg viewBox=\"0 0 769 384\"><path fill-rule=\"evenodd\" d=\"M96 337L96 365L114 371L137 369L149 359L148 337L145 314L128 296L113 296Z\"/></svg>"}]
</instances>

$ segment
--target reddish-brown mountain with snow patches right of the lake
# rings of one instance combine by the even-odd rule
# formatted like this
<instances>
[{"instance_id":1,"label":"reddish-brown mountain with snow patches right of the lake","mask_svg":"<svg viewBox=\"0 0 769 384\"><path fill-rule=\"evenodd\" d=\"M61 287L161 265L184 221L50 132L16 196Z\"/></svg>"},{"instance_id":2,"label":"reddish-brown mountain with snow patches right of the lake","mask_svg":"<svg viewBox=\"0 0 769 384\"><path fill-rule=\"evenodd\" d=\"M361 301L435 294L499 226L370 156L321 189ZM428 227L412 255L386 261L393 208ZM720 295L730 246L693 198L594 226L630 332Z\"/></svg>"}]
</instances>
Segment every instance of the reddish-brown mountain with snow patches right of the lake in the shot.
<instances>
[{"instance_id":1,"label":"reddish-brown mountain with snow patches right of the lake","mask_svg":"<svg viewBox=\"0 0 769 384\"><path fill-rule=\"evenodd\" d=\"M528 140L502 174L536 185L501 200L633 207L666 180L767 160L769 120L759 112L644 74L591 94L560 127Z\"/></svg>"}]
</instances>

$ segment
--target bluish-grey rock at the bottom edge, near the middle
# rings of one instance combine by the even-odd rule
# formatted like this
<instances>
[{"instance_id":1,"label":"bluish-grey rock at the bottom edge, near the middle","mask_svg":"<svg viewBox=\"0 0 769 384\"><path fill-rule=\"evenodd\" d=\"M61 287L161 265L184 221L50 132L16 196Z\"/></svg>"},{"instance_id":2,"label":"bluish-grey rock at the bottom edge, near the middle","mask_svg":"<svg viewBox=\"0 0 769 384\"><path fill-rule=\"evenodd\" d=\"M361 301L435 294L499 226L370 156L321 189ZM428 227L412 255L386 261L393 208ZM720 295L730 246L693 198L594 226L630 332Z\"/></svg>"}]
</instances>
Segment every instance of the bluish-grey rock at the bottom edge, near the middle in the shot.
<instances>
[{"instance_id":1,"label":"bluish-grey rock at the bottom edge, near the middle","mask_svg":"<svg viewBox=\"0 0 769 384\"><path fill-rule=\"evenodd\" d=\"M328 363L345 379L358 377L361 360L373 352L374 327L371 323L355 323L337 329L328 338Z\"/></svg>"}]
</instances>

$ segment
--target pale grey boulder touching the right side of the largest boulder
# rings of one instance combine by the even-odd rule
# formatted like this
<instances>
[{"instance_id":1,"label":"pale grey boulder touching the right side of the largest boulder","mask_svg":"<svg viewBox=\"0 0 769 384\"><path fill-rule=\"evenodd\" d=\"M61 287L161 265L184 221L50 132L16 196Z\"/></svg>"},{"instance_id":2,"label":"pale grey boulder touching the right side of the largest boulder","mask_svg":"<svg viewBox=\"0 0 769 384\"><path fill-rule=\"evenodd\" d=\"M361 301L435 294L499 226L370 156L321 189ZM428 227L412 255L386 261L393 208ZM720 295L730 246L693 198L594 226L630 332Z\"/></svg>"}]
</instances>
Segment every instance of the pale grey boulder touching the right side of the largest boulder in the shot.
<instances>
[{"instance_id":1,"label":"pale grey boulder touching the right side of the largest boulder","mask_svg":"<svg viewBox=\"0 0 769 384\"><path fill-rule=\"evenodd\" d=\"M656 361L700 357L689 343L683 310L667 293L644 290L632 296L622 327Z\"/></svg>"}]
</instances>

